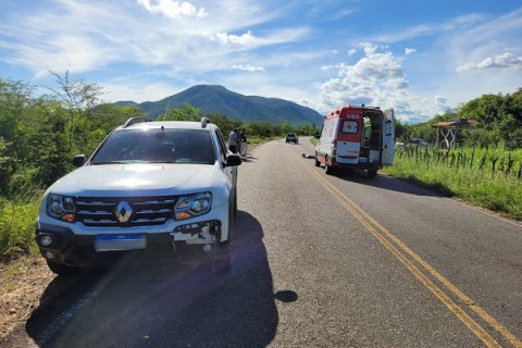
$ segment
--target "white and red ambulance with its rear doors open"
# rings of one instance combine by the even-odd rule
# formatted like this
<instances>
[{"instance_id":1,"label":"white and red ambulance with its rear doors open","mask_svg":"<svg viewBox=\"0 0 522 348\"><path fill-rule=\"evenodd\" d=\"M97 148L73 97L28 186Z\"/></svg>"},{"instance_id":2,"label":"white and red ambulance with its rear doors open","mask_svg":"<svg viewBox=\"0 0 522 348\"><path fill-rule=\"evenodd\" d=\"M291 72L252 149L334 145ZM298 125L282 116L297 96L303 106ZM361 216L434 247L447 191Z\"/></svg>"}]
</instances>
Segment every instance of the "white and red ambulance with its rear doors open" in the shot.
<instances>
[{"instance_id":1,"label":"white and red ambulance with its rear doors open","mask_svg":"<svg viewBox=\"0 0 522 348\"><path fill-rule=\"evenodd\" d=\"M394 162L394 109L345 105L323 117L315 138L315 166L324 165L326 174L362 170L373 178Z\"/></svg>"}]
</instances>

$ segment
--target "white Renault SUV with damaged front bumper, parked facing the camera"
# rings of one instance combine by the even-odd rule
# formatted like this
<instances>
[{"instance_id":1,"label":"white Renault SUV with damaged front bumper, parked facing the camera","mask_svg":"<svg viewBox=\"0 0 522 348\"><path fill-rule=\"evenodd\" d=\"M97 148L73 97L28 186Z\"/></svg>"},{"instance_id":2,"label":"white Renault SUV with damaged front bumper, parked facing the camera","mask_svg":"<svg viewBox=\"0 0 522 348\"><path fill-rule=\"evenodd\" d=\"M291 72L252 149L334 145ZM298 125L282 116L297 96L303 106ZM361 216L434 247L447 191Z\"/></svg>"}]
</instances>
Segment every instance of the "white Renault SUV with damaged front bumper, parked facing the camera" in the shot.
<instances>
[{"instance_id":1,"label":"white Renault SUV with damaged front bumper, parked facing the camera","mask_svg":"<svg viewBox=\"0 0 522 348\"><path fill-rule=\"evenodd\" d=\"M220 129L135 117L45 192L36 241L50 270L67 274L123 251L201 250L231 266L237 165Z\"/></svg>"}]
</instances>

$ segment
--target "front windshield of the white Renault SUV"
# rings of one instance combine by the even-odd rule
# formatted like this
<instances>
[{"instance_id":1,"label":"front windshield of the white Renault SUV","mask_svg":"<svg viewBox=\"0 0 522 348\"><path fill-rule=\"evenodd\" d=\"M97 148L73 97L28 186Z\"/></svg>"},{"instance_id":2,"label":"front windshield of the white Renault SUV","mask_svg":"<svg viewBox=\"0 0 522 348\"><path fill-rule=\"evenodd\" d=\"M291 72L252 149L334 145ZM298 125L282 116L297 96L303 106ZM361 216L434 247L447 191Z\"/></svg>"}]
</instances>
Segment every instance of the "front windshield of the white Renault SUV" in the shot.
<instances>
[{"instance_id":1,"label":"front windshield of the white Renault SUV","mask_svg":"<svg viewBox=\"0 0 522 348\"><path fill-rule=\"evenodd\" d=\"M91 159L91 164L135 162L213 164L210 132L120 129L101 145Z\"/></svg>"}]
</instances>

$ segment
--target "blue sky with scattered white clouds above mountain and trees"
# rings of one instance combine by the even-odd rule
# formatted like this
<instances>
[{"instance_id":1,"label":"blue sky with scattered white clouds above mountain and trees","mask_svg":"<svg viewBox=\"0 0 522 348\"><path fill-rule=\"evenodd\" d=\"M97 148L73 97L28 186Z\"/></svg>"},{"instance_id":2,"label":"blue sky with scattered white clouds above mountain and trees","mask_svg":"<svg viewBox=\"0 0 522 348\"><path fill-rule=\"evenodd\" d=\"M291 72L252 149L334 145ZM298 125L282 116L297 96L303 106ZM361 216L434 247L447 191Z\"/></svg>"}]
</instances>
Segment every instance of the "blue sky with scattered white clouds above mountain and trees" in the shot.
<instances>
[{"instance_id":1,"label":"blue sky with scattered white clouds above mountain and trees","mask_svg":"<svg viewBox=\"0 0 522 348\"><path fill-rule=\"evenodd\" d=\"M424 122L522 87L518 0L0 0L0 77L96 83L105 101L198 84L320 113L394 107Z\"/></svg>"}]
</instances>

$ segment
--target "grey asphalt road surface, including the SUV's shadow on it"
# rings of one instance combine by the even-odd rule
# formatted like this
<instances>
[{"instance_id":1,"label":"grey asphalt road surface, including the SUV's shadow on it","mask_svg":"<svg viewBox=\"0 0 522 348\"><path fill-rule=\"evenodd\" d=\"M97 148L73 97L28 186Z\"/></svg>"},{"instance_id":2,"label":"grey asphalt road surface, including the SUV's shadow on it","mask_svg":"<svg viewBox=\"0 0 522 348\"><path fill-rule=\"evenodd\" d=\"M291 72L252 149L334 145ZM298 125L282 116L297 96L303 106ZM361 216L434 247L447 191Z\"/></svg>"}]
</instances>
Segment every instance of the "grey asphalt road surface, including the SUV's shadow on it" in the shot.
<instances>
[{"instance_id":1,"label":"grey asphalt road surface, including the SUV's shadow on it","mask_svg":"<svg viewBox=\"0 0 522 348\"><path fill-rule=\"evenodd\" d=\"M519 223L303 153L272 141L239 167L231 273L152 257L57 277L30 345L522 347Z\"/></svg>"}]
</instances>

